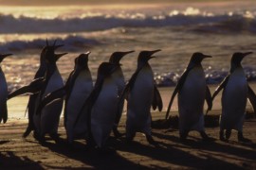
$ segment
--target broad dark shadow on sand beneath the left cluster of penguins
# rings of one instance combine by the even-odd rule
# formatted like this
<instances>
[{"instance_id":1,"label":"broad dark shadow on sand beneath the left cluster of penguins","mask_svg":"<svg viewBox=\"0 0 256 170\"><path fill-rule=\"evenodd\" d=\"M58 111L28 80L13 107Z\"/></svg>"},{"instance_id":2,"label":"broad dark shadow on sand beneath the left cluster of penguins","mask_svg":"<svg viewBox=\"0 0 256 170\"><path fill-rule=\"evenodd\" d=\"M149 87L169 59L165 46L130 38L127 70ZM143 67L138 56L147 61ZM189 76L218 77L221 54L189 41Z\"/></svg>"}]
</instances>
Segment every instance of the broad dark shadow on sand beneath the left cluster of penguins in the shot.
<instances>
[{"instance_id":1,"label":"broad dark shadow on sand beneath the left cluster of penguins","mask_svg":"<svg viewBox=\"0 0 256 170\"><path fill-rule=\"evenodd\" d=\"M110 137L107 145L114 147L119 145L119 141ZM97 148L85 148L82 141L74 141L72 147L65 144L54 144L53 141L44 144L44 146L66 158L92 166L93 169L147 169L146 166L137 164L135 161L129 161L113 150L104 152ZM48 165L47 168L58 169L60 167Z\"/></svg>"}]
</instances>

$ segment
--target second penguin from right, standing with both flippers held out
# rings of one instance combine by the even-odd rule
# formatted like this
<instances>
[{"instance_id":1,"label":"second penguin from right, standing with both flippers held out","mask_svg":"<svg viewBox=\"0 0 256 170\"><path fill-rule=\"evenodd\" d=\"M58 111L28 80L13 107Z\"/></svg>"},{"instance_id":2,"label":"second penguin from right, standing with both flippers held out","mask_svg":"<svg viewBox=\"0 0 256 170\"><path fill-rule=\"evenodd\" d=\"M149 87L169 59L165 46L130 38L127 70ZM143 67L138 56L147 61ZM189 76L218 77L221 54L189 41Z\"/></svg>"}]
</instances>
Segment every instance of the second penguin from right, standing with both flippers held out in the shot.
<instances>
[{"instance_id":1,"label":"second penguin from right, standing with both flippers held out","mask_svg":"<svg viewBox=\"0 0 256 170\"><path fill-rule=\"evenodd\" d=\"M204 141L212 141L204 129L204 102L207 101L212 107L210 89L206 84L205 73L201 61L211 58L208 55L196 52L177 82L174 93L169 102L166 112L166 119L169 117L174 97L178 93L178 112L179 112L179 135L184 141L191 130L200 133Z\"/></svg>"}]
</instances>

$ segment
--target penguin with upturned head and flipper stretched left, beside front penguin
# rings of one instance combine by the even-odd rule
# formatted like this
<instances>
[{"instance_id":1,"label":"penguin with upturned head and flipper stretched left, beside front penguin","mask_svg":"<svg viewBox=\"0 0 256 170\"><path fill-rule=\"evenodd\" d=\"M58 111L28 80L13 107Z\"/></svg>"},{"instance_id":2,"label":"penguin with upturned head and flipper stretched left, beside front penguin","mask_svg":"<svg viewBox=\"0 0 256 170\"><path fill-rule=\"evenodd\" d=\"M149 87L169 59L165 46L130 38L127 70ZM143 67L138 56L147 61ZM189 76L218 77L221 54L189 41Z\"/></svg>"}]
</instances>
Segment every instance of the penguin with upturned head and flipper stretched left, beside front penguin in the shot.
<instances>
[{"instance_id":1,"label":"penguin with upturned head and flipper stretched left, beside front penguin","mask_svg":"<svg viewBox=\"0 0 256 170\"><path fill-rule=\"evenodd\" d=\"M65 96L64 127L68 144L72 144L74 139L85 139L87 134L86 112L83 112L76 126L74 126L74 123L82 109L83 102L93 89L92 76L88 68L89 54L90 52L81 54L75 59L75 68L68 76L64 88L46 95L37 110L37 112L40 112L48 103Z\"/></svg>"}]
</instances>

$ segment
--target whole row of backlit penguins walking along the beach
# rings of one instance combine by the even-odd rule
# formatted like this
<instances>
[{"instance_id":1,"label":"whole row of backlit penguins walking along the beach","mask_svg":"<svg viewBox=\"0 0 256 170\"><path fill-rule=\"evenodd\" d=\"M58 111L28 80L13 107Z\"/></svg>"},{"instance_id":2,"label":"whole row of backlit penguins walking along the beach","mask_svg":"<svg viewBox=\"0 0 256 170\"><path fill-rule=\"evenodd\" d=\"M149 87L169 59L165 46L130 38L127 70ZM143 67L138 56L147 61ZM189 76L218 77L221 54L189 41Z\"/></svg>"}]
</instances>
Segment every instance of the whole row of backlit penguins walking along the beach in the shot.
<instances>
[{"instance_id":1,"label":"whole row of backlit penguins walking along the beach","mask_svg":"<svg viewBox=\"0 0 256 170\"><path fill-rule=\"evenodd\" d=\"M68 144L74 140L85 139L92 147L103 148L113 131L119 138L119 121L127 100L125 137L131 142L137 132L144 133L149 144L157 145L152 137L151 108L162 110L163 104L154 80L154 73L149 59L155 58L160 50L140 51L137 57L137 70L126 83L120 59L133 53L114 52L108 62L102 62L98 69L97 80L93 84L88 68L90 52L81 54L75 59L74 70L68 76L65 84L57 68L56 61L66 53L55 54L55 50L63 45L54 42L43 48L40 56L40 67L34 80L14 92L8 93L5 76L0 70L0 123L8 119L7 100L17 95L29 93L27 104L28 125L24 137L33 131L35 139L46 140L46 134L56 143L60 140L58 127L61 112L64 107L64 128ZM234 53L231 58L229 75L210 94L206 84L205 73L201 61L211 58L196 52L174 88L166 119L178 93L179 134L181 140L186 140L191 130L200 133L204 141L212 141L204 128L204 102L208 110L212 108L212 100L223 90L222 113L220 116L220 140L228 141L231 130L238 131L238 141L250 142L243 136L243 124L247 106L247 98L256 110L256 95L248 86L247 77L241 65L251 52ZM0 55L0 61L7 55ZM207 111L208 111L207 110Z\"/></svg>"}]
</instances>

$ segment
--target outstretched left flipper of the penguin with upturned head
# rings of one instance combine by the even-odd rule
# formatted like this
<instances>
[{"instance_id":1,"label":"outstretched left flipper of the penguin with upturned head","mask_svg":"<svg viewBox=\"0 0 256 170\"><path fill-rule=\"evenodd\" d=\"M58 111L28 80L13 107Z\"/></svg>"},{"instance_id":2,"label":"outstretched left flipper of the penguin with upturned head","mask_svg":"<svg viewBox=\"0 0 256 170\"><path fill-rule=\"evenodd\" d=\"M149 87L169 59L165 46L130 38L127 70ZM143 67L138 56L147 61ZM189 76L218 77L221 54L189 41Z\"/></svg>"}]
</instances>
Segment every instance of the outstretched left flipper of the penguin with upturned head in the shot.
<instances>
[{"instance_id":1,"label":"outstretched left flipper of the penguin with upturned head","mask_svg":"<svg viewBox=\"0 0 256 170\"><path fill-rule=\"evenodd\" d=\"M62 99L65 93L66 92L65 92L65 86L64 86L61 89L58 89L52 93L47 94L46 97L44 97L42 102L39 104L36 110L36 114L39 114L46 107L47 104L54 102L56 100Z\"/></svg>"}]
</instances>

